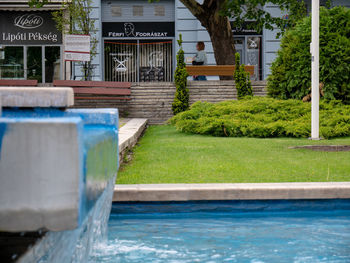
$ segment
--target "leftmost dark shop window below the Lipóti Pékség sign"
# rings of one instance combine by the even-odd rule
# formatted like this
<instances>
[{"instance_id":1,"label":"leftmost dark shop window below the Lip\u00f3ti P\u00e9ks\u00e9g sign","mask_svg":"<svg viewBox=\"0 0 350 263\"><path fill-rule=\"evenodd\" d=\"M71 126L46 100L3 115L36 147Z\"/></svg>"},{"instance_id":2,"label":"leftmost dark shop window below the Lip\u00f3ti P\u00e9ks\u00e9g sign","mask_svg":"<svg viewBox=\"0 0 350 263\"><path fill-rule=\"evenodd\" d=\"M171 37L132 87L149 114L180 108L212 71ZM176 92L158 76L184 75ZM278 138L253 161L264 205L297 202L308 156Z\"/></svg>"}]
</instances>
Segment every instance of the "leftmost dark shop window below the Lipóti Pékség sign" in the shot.
<instances>
[{"instance_id":1,"label":"leftmost dark shop window below the Lip\u00f3ti P\u00e9ks\u00e9g sign","mask_svg":"<svg viewBox=\"0 0 350 263\"><path fill-rule=\"evenodd\" d=\"M0 79L24 79L23 47L0 47Z\"/></svg>"}]
</instances>

